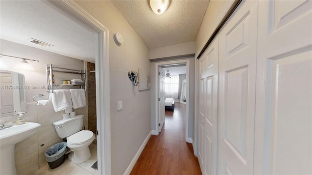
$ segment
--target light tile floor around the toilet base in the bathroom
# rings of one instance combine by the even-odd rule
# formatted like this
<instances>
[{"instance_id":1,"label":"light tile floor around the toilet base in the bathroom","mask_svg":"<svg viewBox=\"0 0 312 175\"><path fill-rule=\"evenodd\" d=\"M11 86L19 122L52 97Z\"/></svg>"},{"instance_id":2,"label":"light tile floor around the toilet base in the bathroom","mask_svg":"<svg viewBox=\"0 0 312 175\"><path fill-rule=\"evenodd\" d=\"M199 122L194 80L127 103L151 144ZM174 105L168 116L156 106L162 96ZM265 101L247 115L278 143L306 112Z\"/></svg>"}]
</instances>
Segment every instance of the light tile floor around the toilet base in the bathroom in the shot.
<instances>
[{"instance_id":1,"label":"light tile floor around the toilet base in the bathroom","mask_svg":"<svg viewBox=\"0 0 312 175\"><path fill-rule=\"evenodd\" d=\"M58 168L50 169L47 164L37 170L34 175L98 175L98 170L91 168L97 161L97 145L92 143L89 148L92 155L83 163L75 164L66 157L64 163Z\"/></svg>"}]
</instances>

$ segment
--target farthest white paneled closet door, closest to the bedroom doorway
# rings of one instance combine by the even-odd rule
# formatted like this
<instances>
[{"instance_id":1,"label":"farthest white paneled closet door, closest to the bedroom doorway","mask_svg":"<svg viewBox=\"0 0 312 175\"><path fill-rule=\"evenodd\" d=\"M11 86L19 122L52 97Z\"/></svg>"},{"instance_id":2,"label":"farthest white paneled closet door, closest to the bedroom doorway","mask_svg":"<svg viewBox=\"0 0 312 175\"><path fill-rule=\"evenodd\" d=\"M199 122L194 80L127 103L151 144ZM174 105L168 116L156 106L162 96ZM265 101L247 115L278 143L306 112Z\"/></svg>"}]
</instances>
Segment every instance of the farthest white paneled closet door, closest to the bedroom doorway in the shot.
<instances>
[{"instance_id":1,"label":"farthest white paneled closet door, closest to the bedroom doorway","mask_svg":"<svg viewBox=\"0 0 312 175\"><path fill-rule=\"evenodd\" d=\"M199 59L199 162L203 175L217 166L218 36Z\"/></svg>"}]
</instances>

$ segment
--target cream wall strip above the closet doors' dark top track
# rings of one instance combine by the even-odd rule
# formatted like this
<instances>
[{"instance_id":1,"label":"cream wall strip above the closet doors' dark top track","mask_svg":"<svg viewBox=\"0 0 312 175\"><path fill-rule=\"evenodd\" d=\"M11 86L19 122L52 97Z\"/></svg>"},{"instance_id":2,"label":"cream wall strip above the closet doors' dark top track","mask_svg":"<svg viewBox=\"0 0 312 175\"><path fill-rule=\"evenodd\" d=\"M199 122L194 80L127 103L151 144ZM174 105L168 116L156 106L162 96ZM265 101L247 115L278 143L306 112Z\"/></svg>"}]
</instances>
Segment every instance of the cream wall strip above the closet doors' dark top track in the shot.
<instances>
[{"instance_id":1,"label":"cream wall strip above the closet doors' dark top track","mask_svg":"<svg viewBox=\"0 0 312 175\"><path fill-rule=\"evenodd\" d=\"M217 23L216 20L221 14L222 9L226 6L230 0L210 0L206 14L199 28L199 32L196 37L196 53L195 56L203 49L203 46L208 41L207 39L212 35Z\"/></svg>"}]
</instances>

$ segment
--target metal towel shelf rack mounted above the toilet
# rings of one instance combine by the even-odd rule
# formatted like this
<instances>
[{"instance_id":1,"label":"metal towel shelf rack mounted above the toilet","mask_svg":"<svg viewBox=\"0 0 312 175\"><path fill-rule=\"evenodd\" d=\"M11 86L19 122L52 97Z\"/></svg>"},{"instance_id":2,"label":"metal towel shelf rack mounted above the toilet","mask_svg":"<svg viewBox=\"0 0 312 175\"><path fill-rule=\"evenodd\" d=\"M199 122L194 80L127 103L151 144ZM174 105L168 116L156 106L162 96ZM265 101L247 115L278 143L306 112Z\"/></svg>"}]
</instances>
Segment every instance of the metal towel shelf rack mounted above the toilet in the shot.
<instances>
[{"instance_id":1,"label":"metal towel shelf rack mounted above the toilet","mask_svg":"<svg viewBox=\"0 0 312 175\"><path fill-rule=\"evenodd\" d=\"M67 69L67 68L59 68L59 67L52 67L52 64L47 65L46 69L46 75L47 75L47 88L48 92L54 92L54 86L55 84L53 83L53 72L63 72L63 73L74 73L74 74L79 74L80 79L84 81L84 85L65 85L65 86L80 86L80 88L84 88L86 90L86 70L72 70L72 69ZM83 77L83 79L82 79ZM51 80L51 81L50 81Z\"/></svg>"}]
</instances>

